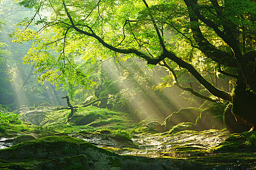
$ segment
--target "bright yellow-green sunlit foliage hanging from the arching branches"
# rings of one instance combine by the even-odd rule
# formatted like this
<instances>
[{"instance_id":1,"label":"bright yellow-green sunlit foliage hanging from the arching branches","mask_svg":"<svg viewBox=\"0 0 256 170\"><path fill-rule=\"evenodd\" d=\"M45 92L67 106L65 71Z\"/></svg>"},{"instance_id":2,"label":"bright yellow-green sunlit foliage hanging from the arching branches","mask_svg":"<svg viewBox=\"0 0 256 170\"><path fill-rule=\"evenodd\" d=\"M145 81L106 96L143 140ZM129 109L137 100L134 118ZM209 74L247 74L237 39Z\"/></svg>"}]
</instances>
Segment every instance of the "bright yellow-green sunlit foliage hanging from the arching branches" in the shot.
<instances>
[{"instance_id":1,"label":"bright yellow-green sunlit foliage hanging from the arching branches","mask_svg":"<svg viewBox=\"0 0 256 170\"><path fill-rule=\"evenodd\" d=\"M219 40L219 37L205 24L190 22L188 9L183 1L148 0L147 3L148 6L143 1L130 0L99 2L23 0L20 5L26 8L33 7L35 11L43 13L43 17L34 18L35 24L43 28L39 32L30 28L25 31L17 28L12 36L16 37L14 41L18 43L33 41L28 55L23 58L24 62L35 63L35 72L43 72L40 80L42 82L48 80L57 86L60 83L66 87L70 85L81 85L80 88L100 86L104 82L95 81L99 74L92 78L89 69L85 66L91 67L113 56L117 61L127 60L134 54L149 61L149 57L128 52L129 49L143 52L152 59L158 58L163 52L161 40L167 50L190 63L208 81L213 81L211 72L214 72L217 79L217 64L198 50L192 39L190 27L193 24L200 24L203 34L210 43L216 44L217 48L231 51L224 41ZM238 2L235 1L235 3ZM249 4L248 2L241 5ZM198 1L200 12L213 21L220 21L212 13L208 14L210 5L210 2ZM228 4L225 5L222 4L229 9ZM42 8L51 11L51 14L46 15ZM248 10L252 11L251 8ZM231 13L227 15L233 16ZM19 23L19 26L26 27L28 24L31 24L29 19L25 19ZM187 84L195 81L190 78L186 69L178 67L174 62L167 62L179 73L180 83ZM162 89L171 86L172 83L176 82L172 81L170 76L166 76L164 84L158 87ZM217 83L213 84L217 86ZM195 90L209 95L203 88L197 88L200 84L195 83L193 86ZM70 97L73 98L72 95ZM116 98L121 97L120 95L111 96L110 101L114 103ZM126 102L120 101L120 105Z\"/></svg>"}]
</instances>

